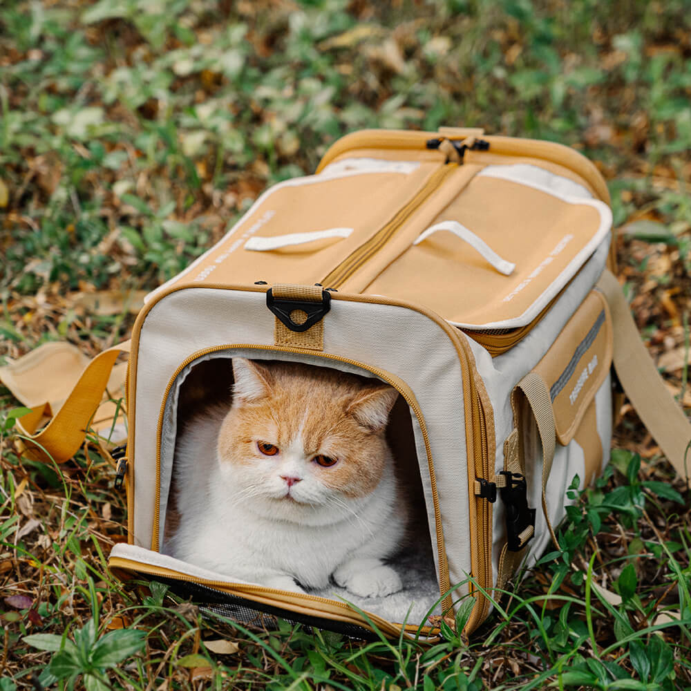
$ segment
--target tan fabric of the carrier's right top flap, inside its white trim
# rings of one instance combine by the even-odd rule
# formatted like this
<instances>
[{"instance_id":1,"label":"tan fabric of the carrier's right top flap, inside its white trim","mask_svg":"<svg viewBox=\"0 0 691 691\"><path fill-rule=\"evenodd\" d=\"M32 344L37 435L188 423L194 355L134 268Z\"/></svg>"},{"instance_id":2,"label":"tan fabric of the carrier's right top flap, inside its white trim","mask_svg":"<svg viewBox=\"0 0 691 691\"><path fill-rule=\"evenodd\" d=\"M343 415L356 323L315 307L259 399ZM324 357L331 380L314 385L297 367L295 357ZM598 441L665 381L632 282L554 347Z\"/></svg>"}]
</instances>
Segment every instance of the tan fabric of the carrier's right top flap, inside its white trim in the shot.
<instances>
[{"instance_id":1,"label":"tan fabric of the carrier's right top flap, inside its white trim","mask_svg":"<svg viewBox=\"0 0 691 691\"><path fill-rule=\"evenodd\" d=\"M432 223L462 223L515 263L513 274L500 274L455 235L439 231L409 247L367 290L421 302L453 323L500 328L558 283L601 231L603 219L594 203L570 204L527 185L474 178Z\"/></svg>"}]
</instances>

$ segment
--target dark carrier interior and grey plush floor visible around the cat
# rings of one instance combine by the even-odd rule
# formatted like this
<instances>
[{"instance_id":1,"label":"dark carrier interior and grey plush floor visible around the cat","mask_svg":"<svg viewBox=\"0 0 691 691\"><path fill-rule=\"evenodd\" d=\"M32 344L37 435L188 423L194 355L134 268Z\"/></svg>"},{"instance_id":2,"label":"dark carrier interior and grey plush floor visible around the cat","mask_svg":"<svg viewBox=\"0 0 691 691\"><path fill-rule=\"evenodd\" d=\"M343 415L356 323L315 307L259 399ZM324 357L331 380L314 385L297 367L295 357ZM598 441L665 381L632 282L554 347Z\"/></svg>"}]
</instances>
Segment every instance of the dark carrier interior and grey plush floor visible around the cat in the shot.
<instances>
[{"instance_id":1,"label":"dark carrier interior and grey plush floor visible around the cat","mask_svg":"<svg viewBox=\"0 0 691 691\"><path fill-rule=\"evenodd\" d=\"M178 373L167 397L161 430L159 524L162 529L159 534L158 549L162 549L165 539L171 531L176 529L178 522L176 508L176 482L178 479L175 467L178 430L181 430L184 425L190 424L193 416L204 406L209 404L230 406L233 384L231 359L234 356L254 360L298 360L306 361L312 366L324 366L323 361L320 361L319 358L310 358L307 355L294 356L285 352L279 354L250 349L243 349L238 352L236 349L202 355ZM334 365L336 365L334 368L342 371L372 376L370 372L355 366L348 366L347 363L337 362ZM398 552L386 562L401 576L404 589L384 597L362 598L337 586L332 581L325 589L307 589L307 593L334 600L345 600L366 610L366 612L386 618L388 621L417 625L418 623L425 623L430 614L440 614L441 608L439 606L440 593L436 560L430 541L429 520L430 517L432 520L434 519L434 509L428 507L425 500L425 495L429 496L431 490L430 488L427 491L424 489L424 480L419 469L414 417L411 415L406 401L399 396L390 413L386 428L386 439L394 457L399 482L404 488L409 512L406 540ZM229 529L229 534L231 532ZM184 568L180 566L182 562L164 554L160 555L160 559L164 562L176 562L178 570ZM195 565L189 566L194 567ZM207 571L207 577L209 573ZM219 580L232 580L233 577L233 574L216 575Z\"/></svg>"}]
</instances>

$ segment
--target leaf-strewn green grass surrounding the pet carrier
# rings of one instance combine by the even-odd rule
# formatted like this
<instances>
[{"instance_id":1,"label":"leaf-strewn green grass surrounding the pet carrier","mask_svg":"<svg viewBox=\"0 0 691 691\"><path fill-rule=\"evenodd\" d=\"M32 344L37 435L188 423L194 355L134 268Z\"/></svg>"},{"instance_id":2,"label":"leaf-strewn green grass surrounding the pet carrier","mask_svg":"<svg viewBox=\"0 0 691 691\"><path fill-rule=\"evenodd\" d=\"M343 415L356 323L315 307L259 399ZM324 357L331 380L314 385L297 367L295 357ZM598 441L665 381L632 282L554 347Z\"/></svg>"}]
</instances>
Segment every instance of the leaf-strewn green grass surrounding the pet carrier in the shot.
<instances>
[{"instance_id":1,"label":"leaf-strewn green grass surrounding the pet carrier","mask_svg":"<svg viewBox=\"0 0 691 691\"><path fill-rule=\"evenodd\" d=\"M68 339L93 355L126 337L129 312L79 296L155 287L347 131L465 124L596 162L651 354L688 360L689 9L6 0L1 353ZM665 377L685 400L688 366ZM249 631L165 585L121 583L106 567L126 514L113 468L93 444L60 468L21 457L16 409L0 388L0 691L691 688L688 491L629 408L612 463L568 510L562 551L471 641L450 632L431 647Z\"/></svg>"}]
</instances>

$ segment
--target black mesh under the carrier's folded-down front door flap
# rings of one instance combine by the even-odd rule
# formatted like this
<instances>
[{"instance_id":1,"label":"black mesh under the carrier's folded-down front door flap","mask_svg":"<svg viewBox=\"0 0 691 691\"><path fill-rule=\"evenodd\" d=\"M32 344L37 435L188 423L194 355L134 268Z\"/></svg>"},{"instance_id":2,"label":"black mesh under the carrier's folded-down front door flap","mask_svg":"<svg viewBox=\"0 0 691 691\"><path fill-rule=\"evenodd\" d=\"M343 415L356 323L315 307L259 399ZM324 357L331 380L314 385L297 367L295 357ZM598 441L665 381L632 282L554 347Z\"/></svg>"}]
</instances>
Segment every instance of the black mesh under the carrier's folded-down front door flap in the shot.
<instances>
[{"instance_id":1,"label":"black mesh under the carrier's folded-down front door flap","mask_svg":"<svg viewBox=\"0 0 691 691\"><path fill-rule=\"evenodd\" d=\"M264 631L274 631L278 628L276 619L281 618L291 624L314 626L319 629L343 634L350 638L361 638L366 641L379 640L377 634L355 624L316 616L305 616L296 612L290 612L288 609L255 603L252 600L245 600L245 598L239 598L205 585L199 585L198 583L189 583L158 576L156 580L169 585L171 591L176 595L182 598L191 598L193 603L199 605L202 612L207 609L245 626L256 627Z\"/></svg>"}]
</instances>

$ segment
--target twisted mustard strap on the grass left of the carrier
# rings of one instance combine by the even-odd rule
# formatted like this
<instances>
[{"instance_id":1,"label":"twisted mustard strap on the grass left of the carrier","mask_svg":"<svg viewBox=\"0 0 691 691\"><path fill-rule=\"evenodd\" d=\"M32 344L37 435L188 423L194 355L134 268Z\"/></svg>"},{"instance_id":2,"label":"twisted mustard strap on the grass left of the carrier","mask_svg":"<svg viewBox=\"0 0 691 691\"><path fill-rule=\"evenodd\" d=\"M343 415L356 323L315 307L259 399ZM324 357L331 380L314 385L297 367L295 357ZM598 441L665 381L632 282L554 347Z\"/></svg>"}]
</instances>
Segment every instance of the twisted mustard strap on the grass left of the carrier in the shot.
<instances>
[{"instance_id":1,"label":"twisted mustard strap on the grass left of the carrier","mask_svg":"<svg viewBox=\"0 0 691 691\"><path fill-rule=\"evenodd\" d=\"M46 406L17 419L17 428L32 458L64 463L79 451L86 428L102 402L115 360L120 353L129 353L130 346L131 341L113 345L88 363L64 404L40 432L37 433L36 428L41 418L50 413Z\"/></svg>"}]
</instances>

